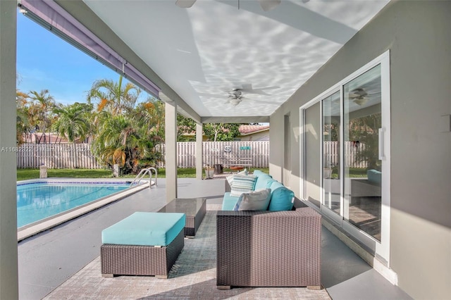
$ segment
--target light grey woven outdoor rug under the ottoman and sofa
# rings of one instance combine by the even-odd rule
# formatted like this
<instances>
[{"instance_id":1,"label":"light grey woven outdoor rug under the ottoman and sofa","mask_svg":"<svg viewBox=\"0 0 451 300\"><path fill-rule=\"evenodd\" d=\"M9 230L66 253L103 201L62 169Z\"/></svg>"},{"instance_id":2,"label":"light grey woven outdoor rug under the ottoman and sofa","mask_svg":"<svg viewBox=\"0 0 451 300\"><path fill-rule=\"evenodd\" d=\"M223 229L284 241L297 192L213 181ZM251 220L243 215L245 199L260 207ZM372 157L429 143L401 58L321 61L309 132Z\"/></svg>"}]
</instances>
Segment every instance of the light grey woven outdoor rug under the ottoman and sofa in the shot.
<instances>
[{"instance_id":1,"label":"light grey woven outdoor rug under the ottoman and sofa","mask_svg":"<svg viewBox=\"0 0 451 300\"><path fill-rule=\"evenodd\" d=\"M326 289L304 287L216 288L216 210L207 212L194 239L173 265L168 279L153 276L101 277L100 256L44 299L330 299Z\"/></svg>"}]
</instances>

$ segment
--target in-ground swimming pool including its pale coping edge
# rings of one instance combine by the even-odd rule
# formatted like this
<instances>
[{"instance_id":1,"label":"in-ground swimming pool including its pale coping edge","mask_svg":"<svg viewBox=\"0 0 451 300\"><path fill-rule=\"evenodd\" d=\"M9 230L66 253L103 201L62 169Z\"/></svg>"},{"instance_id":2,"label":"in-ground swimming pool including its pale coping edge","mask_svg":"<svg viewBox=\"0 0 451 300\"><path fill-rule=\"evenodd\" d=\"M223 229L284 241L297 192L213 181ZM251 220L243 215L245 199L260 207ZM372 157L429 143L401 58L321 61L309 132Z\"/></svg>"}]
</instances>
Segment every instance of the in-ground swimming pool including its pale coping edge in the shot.
<instances>
[{"instance_id":1,"label":"in-ground swimming pool including its pale coping edge","mask_svg":"<svg viewBox=\"0 0 451 300\"><path fill-rule=\"evenodd\" d=\"M20 233L23 228L46 223L51 219L58 219L57 222L50 222L51 224L62 223L88 212L89 209L98 208L111 201L133 194L145 188L145 186L144 183L144 185L130 188L130 182L124 180L32 180L18 182L18 231ZM63 218L61 218L62 215ZM68 217L64 215L68 215Z\"/></svg>"}]
</instances>

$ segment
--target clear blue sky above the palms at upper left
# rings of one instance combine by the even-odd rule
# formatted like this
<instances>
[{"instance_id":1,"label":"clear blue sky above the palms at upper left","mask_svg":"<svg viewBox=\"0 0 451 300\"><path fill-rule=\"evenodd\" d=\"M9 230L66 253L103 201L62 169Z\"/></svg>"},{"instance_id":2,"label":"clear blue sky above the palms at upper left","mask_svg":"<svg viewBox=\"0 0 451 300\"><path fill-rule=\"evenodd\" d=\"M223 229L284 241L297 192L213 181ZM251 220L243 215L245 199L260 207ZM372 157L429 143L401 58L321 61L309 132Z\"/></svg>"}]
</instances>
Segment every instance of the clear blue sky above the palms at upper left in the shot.
<instances>
[{"instance_id":1,"label":"clear blue sky above the palms at upper left","mask_svg":"<svg viewBox=\"0 0 451 300\"><path fill-rule=\"evenodd\" d=\"M17 72L22 92L49 89L56 102L85 102L92 82L119 75L18 13ZM145 94L145 92L144 92Z\"/></svg>"}]
</instances>

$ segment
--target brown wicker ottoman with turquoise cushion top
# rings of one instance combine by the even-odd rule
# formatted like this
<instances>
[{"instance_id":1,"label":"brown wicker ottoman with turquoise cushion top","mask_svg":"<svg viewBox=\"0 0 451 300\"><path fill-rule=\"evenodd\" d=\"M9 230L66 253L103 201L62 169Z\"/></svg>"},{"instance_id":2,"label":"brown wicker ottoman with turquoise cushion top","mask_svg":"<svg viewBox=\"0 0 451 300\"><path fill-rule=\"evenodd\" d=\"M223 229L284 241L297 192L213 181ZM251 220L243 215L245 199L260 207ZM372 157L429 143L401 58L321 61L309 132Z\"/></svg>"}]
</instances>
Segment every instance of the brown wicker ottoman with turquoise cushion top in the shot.
<instances>
[{"instance_id":1,"label":"brown wicker ottoman with turquoise cushion top","mask_svg":"<svg viewBox=\"0 0 451 300\"><path fill-rule=\"evenodd\" d=\"M167 278L183 249L185 214L137 212L102 230L101 275Z\"/></svg>"}]
</instances>

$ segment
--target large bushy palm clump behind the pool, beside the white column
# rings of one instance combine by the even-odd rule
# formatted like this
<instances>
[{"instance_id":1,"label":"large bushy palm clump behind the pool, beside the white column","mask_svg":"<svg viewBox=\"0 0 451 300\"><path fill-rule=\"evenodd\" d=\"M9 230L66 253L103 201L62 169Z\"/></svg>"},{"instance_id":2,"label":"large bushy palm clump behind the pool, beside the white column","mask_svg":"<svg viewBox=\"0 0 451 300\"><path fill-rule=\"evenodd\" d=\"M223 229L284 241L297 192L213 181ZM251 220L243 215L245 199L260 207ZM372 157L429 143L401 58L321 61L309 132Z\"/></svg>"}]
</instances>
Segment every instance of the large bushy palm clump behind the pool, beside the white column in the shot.
<instances>
[{"instance_id":1,"label":"large bushy palm clump behind the pool, beside the white column","mask_svg":"<svg viewBox=\"0 0 451 300\"><path fill-rule=\"evenodd\" d=\"M88 103L97 101L92 151L105 165L137 173L141 165L161 159L154 145L163 140L164 106L150 97L137 105L141 90L132 83L123 87L122 80L97 80L87 94Z\"/></svg>"}]
</instances>

